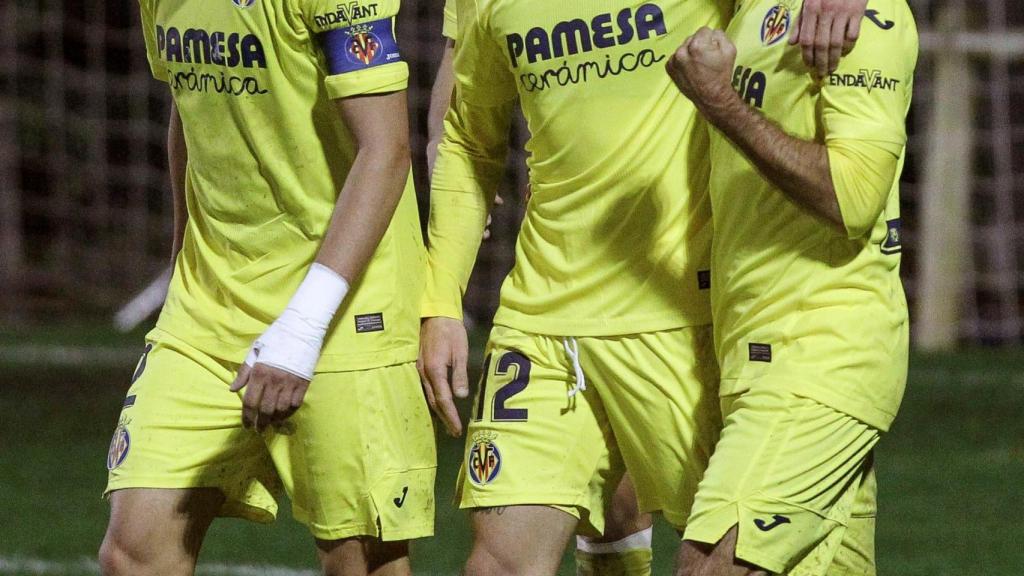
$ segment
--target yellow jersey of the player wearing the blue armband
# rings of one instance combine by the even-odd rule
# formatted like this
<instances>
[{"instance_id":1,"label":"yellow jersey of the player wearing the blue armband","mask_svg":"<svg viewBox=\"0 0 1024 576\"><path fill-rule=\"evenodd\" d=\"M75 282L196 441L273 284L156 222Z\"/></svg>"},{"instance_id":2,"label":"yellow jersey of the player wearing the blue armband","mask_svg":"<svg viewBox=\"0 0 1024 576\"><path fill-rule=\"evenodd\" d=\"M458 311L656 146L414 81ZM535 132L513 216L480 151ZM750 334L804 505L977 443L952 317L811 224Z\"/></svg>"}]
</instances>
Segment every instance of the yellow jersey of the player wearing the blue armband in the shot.
<instances>
[{"instance_id":1,"label":"yellow jersey of the player wearing the blue armband","mask_svg":"<svg viewBox=\"0 0 1024 576\"><path fill-rule=\"evenodd\" d=\"M407 86L398 0L140 4L151 68L188 150L188 227L158 328L240 362L304 278L353 162L332 98ZM416 358L424 261L410 179L317 370Z\"/></svg>"}]
</instances>

